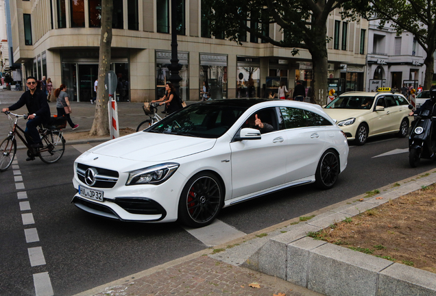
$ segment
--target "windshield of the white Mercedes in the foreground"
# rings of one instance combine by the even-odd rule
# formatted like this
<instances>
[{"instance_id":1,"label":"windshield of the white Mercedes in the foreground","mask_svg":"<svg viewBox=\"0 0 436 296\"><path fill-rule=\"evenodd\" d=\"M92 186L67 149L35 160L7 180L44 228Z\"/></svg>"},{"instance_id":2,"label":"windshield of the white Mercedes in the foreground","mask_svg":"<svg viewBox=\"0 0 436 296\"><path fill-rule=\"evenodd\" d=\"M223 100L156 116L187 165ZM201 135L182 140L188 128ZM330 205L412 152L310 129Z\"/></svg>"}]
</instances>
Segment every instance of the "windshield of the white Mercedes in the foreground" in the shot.
<instances>
[{"instance_id":1,"label":"windshield of the white Mercedes in the foreground","mask_svg":"<svg viewBox=\"0 0 436 296\"><path fill-rule=\"evenodd\" d=\"M219 138L225 134L247 107L216 103L196 103L165 117L144 132L178 134L200 138Z\"/></svg>"}]
</instances>

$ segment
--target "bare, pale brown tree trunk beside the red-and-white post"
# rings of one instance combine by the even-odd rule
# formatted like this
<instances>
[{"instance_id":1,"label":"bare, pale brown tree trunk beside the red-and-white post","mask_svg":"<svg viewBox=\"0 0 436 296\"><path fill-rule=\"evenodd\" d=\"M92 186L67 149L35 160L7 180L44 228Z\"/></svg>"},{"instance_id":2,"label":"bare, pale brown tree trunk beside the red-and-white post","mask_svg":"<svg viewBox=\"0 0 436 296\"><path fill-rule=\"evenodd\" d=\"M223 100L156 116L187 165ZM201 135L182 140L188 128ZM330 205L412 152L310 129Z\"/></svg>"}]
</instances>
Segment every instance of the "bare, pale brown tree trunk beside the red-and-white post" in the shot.
<instances>
[{"instance_id":1,"label":"bare, pale brown tree trunk beside the red-and-white post","mask_svg":"<svg viewBox=\"0 0 436 296\"><path fill-rule=\"evenodd\" d=\"M112 0L101 0L101 35L99 51L99 74L97 80L97 100L95 116L90 136L106 136L109 134L108 90L104 86L104 78L110 70L110 44L112 43Z\"/></svg>"}]
</instances>

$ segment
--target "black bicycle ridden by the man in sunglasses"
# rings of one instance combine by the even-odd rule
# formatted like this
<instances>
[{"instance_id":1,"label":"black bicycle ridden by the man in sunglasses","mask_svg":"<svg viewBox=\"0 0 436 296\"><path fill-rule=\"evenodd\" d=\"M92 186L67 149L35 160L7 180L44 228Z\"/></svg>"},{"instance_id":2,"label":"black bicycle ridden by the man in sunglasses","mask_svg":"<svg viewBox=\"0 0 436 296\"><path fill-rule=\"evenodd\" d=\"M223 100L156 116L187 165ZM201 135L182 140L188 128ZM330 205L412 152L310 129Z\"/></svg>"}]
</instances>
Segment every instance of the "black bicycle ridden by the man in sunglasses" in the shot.
<instances>
[{"instance_id":1,"label":"black bicycle ridden by the man in sunglasses","mask_svg":"<svg viewBox=\"0 0 436 296\"><path fill-rule=\"evenodd\" d=\"M60 160L65 151L65 139L62 128L66 126L66 120L62 118L53 117L51 122L44 127L38 127L38 132L43 143L42 148L34 148L32 143L28 143L26 136L31 138L21 127L18 125L20 118L27 119L27 115L14 114L12 112L3 112L8 115L11 122L12 130L8 136L0 144L0 172L6 171L16 154L16 136L18 136L27 147L27 156L34 158L38 156L43 162L50 164ZM13 118L15 116L15 119ZM12 125L13 123L13 125ZM21 135L21 133L23 136Z\"/></svg>"}]
</instances>

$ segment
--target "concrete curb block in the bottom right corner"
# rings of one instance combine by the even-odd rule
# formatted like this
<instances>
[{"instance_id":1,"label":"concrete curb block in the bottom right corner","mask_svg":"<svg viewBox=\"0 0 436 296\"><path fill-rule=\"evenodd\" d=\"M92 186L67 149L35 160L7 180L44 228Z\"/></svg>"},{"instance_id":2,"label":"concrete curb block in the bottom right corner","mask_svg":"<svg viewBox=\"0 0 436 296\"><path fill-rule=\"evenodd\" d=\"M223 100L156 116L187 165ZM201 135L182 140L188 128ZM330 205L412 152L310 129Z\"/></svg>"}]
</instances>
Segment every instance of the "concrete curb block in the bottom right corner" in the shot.
<instances>
[{"instance_id":1,"label":"concrete curb block in the bottom right corner","mask_svg":"<svg viewBox=\"0 0 436 296\"><path fill-rule=\"evenodd\" d=\"M394 263L380 272L378 296L435 296L436 274Z\"/></svg>"}]
</instances>

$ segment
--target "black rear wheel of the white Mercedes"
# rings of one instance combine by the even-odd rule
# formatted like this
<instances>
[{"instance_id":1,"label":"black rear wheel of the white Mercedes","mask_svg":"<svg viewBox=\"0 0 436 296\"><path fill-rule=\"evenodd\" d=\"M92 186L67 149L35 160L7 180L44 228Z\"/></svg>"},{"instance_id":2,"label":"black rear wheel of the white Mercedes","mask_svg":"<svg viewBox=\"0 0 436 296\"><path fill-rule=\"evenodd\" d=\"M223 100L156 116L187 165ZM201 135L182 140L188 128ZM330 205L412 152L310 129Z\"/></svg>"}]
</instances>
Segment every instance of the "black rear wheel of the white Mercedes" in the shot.
<instances>
[{"instance_id":1,"label":"black rear wheel of the white Mercedes","mask_svg":"<svg viewBox=\"0 0 436 296\"><path fill-rule=\"evenodd\" d=\"M320 189L332 188L336 183L340 170L338 154L336 151L327 150L319 159L315 173L316 186Z\"/></svg>"}]
</instances>

